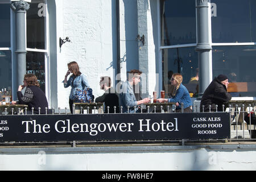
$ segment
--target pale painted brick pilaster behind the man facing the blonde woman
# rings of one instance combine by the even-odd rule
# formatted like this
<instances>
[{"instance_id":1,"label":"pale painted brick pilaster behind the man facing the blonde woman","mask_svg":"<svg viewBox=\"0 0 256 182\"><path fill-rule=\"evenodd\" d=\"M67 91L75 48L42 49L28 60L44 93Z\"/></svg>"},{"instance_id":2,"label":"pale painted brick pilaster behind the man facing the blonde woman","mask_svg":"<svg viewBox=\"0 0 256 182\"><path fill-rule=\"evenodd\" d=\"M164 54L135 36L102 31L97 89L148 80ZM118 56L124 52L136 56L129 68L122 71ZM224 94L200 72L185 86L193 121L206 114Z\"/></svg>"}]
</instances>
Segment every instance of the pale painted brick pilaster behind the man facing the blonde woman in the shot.
<instances>
[{"instance_id":1,"label":"pale painted brick pilaster behind the man facing the blonde woman","mask_svg":"<svg viewBox=\"0 0 256 182\"><path fill-rule=\"evenodd\" d=\"M151 10L150 3L156 3L152 0L137 0L138 9L138 35L143 38L144 35L144 45L142 41L139 41L138 47L138 61L139 70L143 72L141 81L141 95L147 97L153 96L153 91L159 90L159 77L156 74L156 59L155 59L155 44L154 44L154 26L151 14L154 14L154 10ZM159 94L159 92L157 92Z\"/></svg>"}]
</instances>

